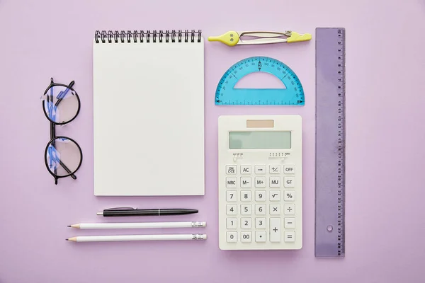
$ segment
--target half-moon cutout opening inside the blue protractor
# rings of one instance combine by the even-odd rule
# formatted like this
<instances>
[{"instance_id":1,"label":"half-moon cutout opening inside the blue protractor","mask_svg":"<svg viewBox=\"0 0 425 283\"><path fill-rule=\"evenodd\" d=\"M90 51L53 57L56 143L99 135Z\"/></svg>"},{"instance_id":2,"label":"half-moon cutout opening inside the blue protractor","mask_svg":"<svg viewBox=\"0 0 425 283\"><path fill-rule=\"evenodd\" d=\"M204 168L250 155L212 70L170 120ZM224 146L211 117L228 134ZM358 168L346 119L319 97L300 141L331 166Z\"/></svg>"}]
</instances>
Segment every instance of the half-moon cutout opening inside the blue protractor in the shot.
<instances>
[{"instance_id":1,"label":"half-moon cutout opening inside the blue protractor","mask_svg":"<svg viewBox=\"0 0 425 283\"><path fill-rule=\"evenodd\" d=\"M286 86L277 76L256 71L239 79L234 88L286 88Z\"/></svg>"}]
</instances>

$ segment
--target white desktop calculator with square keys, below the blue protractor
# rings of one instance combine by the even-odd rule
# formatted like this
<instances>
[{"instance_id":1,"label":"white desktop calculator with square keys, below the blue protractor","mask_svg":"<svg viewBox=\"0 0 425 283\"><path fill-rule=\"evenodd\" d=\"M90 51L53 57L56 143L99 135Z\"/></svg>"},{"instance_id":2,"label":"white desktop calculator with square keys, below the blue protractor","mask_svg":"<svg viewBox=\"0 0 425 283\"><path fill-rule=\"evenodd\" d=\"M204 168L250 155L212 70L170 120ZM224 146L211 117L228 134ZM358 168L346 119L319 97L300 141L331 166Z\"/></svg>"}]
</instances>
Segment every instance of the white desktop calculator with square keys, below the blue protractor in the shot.
<instances>
[{"instance_id":1,"label":"white desktop calculator with square keys, below the blue protractor","mask_svg":"<svg viewBox=\"0 0 425 283\"><path fill-rule=\"evenodd\" d=\"M218 118L221 250L302 248L300 115Z\"/></svg>"}]
</instances>

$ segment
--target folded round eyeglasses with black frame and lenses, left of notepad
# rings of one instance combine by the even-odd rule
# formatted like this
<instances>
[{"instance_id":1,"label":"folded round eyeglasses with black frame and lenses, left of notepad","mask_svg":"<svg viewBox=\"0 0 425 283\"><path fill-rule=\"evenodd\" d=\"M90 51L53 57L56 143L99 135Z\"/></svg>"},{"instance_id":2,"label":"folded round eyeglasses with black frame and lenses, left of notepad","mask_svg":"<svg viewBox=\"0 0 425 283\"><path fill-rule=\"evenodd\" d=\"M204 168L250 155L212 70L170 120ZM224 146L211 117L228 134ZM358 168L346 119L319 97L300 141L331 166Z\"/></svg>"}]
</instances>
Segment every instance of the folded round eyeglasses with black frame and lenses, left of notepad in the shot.
<instances>
[{"instance_id":1,"label":"folded round eyeglasses with black frame and lenses, left of notepad","mask_svg":"<svg viewBox=\"0 0 425 283\"><path fill-rule=\"evenodd\" d=\"M67 125L77 117L81 104L79 96L69 85L55 83L50 79L42 96L42 110L50 121L50 141L45 149L45 165L50 174L57 179L71 176L74 180L83 161L83 153L77 141L69 137L56 136L56 125Z\"/></svg>"}]
</instances>

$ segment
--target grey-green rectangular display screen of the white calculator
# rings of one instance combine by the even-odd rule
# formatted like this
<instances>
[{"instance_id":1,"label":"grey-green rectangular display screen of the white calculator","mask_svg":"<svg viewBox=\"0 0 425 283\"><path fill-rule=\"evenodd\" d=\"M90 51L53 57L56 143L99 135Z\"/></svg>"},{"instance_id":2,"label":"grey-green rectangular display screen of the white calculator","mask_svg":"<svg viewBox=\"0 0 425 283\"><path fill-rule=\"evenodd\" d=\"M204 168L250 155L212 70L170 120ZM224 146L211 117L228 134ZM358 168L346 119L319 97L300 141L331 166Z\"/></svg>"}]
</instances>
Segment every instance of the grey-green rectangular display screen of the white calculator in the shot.
<instances>
[{"instance_id":1,"label":"grey-green rectangular display screen of the white calculator","mask_svg":"<svg viewBox=\"0 0 425 283\"><path fill-rule=\"evenodd\" d=\"M229 132L229 149L290 149L290 132Z\"/></svg>"}]
</instances>

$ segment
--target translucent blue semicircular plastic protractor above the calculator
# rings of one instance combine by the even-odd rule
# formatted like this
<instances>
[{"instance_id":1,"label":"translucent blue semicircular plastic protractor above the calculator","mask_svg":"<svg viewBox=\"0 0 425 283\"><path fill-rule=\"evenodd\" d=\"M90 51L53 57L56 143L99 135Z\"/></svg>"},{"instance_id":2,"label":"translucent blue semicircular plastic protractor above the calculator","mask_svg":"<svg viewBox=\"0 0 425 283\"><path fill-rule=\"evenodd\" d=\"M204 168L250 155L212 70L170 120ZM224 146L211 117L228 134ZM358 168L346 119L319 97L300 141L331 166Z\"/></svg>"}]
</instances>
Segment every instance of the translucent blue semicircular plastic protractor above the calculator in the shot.
<instances>
[{"instance_id":1,"label":"translucent blue semicircular plastic protractor above the calculator","mask_svg":"<svg viewBox=\"0 0 425 283\"><path fill-rule=\"evenodd\" d=\"M285 88L234 88L247 74L267 72L278 77ZM230 67L215 91L215 105L304 105L304 90L287 65L270 57L249 57Z\"/></svg>"}]
</instances>

